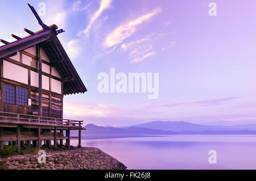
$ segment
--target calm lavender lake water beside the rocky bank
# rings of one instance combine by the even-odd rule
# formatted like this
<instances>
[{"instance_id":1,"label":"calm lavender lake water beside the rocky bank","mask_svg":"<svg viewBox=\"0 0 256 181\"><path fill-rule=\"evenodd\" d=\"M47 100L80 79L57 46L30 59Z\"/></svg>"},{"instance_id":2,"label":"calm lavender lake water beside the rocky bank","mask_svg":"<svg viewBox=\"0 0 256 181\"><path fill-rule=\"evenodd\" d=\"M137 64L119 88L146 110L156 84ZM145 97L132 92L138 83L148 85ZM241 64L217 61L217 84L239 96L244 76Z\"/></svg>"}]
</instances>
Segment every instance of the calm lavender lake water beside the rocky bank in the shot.
<instances>
[{"instance_id":1,"label":"calm lavender lake water beside the rocky bank","mask_svg":"<svg viewBox=\"0 0 256 181\"><path fill-rule=\"evenodd\" d=\"M127 169L256 169L255 135L109 138L82 146L105 151ZM208 162L209 150L217 151L217 163Z\"/></svg>"}]
</instances>

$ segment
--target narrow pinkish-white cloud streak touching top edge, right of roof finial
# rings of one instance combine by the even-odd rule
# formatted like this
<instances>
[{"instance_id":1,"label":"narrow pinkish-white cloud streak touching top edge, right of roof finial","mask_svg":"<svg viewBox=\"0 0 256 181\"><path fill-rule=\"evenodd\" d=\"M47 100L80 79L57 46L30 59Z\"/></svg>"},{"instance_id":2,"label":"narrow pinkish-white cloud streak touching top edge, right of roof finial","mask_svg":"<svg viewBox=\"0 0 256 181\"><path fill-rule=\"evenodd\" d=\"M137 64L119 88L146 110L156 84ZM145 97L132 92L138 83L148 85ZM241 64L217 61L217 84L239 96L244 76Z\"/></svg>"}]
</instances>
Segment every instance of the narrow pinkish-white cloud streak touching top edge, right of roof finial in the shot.
<instances>
[{"instance_id":1,"label":"narrow pinkish-white cloud streak touching top edge, right of roof finial","mask_svg":"<svg viewBox=\"0 0 256 181\"><path fill-rule=\"evenodd\" d=\"M79 35L81 33L84 33L86 36L89 36L90 28L92 28L93 23L100 17L104 10L110 7L111 3L112 0L101 0L100 8L96 12L94 12L92 18L90 18L89 24L87 25L84 31L79 32Z\"/></svg>"}]
</instances>

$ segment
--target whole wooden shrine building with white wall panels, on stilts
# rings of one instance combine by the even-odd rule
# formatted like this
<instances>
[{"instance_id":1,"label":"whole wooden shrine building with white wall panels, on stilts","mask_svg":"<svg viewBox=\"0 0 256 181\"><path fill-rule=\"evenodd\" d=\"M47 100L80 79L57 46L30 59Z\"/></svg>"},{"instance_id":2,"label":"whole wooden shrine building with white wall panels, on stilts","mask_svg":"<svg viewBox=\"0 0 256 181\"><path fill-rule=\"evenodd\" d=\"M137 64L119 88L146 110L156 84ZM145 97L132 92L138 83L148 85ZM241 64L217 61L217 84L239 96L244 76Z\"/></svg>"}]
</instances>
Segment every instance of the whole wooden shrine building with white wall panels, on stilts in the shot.
<instances>
[{"instance_id":1,"label":"whole wooden shrine building with white wall panels, on stilts","mask_svg":"<svg viewBox=\"0 0 256 181\"><path fill-rule=\"evenodd\" d=\"M30 6L30 5L28 5ZM57 142L70 148L72 138L81 147L82 121L63 118L63 96L86 91L57 35L56 25L46 26L34 7L30 9L42 30L26 28L26 37L11 35L12 43L0 40L0 150L5 142L57 148ZM78 131L71 137L72 130ZM65 134L64 134L65 133ZM31 145L32 143L32 145Z\"/></svg>"}]
</instances>

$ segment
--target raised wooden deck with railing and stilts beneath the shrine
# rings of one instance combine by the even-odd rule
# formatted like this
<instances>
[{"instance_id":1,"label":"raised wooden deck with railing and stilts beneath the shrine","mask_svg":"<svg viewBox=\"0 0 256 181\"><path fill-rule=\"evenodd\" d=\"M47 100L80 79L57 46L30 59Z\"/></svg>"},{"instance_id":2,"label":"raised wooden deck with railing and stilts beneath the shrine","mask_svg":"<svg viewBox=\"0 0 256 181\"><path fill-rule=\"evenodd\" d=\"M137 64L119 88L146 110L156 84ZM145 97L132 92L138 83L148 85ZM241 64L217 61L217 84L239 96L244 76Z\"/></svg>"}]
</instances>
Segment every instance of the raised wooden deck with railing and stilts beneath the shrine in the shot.
<instances>
[{"instance_id":1,"label":"raised wooden deck with railing and stilts beneath the shrine","mask_svg":"<svg viewBox=\"0 0 256 181\"><path fill-rule=\"evenodd\" d=\"M79 139L79 147L81 147L81 130L85 130L85 128L82 128L82 122L0 111L0 150L3 149L3 143L7 141L16 142L18 151L24 145L24 141L29 146L32 141L32 146L38 146L40 149L42 148L42 141L47 142L47 145L51 147L51 140L54 140L53 148L56 149L57 140L60 141L60 146L63 146L63 140L65 139L65 146L70 148L70 140ZM11 129L11 131L4 129ZM79 135L71 137L71 130L79 131Z\"/></svg>"}]
</instances>

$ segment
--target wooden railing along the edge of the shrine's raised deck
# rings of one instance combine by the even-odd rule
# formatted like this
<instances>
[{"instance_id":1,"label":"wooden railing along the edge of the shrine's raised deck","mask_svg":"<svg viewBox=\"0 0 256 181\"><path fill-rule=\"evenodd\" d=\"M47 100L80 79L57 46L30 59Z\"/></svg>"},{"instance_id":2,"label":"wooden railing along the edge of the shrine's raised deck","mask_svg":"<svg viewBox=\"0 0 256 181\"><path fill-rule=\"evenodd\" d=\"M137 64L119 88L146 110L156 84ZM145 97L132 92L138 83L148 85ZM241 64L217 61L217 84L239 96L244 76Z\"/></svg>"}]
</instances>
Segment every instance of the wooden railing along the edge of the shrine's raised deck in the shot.
<instances>
[{"instance_id":1,"label":"wooden railing along the edge of the shrine's raised deck","mask_svg":"<svg viewBox=\"0 0 256 181\"><path fill-rule=\"evenodd\" d=\"M43 125L67 125L74 127L81 127L83 121L60 119L56 117L36 116L36 115L24 115L21 113L2 112L0 111L0 123L31 123L31 124L43 124Z\"/></svg>"}]
</instances>

